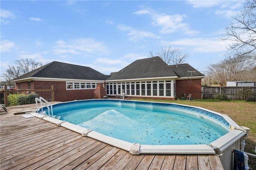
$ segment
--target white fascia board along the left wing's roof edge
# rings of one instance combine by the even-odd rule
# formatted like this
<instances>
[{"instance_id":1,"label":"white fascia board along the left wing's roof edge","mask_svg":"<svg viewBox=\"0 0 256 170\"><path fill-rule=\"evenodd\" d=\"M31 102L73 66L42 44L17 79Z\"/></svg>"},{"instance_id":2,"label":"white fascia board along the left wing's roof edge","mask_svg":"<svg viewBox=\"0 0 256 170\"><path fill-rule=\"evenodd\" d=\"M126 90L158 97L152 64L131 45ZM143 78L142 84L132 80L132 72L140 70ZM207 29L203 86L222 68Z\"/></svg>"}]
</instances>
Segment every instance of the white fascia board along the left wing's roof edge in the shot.
<instances>
[{"instance_id":1,"label":"white fascia board along the left wing's roof edge","mask_svg":"<svg viewBox=\"0 0 256 170\"><path fill-rule=\"evenodd\" d=\"M14 82L19 81L95 81L95 82L105 82L104 80L86 80L86 79L58 79L58 78L47 78L47 77L28 77L24 79L14 80Z\"/></svg>"}]
</instances>

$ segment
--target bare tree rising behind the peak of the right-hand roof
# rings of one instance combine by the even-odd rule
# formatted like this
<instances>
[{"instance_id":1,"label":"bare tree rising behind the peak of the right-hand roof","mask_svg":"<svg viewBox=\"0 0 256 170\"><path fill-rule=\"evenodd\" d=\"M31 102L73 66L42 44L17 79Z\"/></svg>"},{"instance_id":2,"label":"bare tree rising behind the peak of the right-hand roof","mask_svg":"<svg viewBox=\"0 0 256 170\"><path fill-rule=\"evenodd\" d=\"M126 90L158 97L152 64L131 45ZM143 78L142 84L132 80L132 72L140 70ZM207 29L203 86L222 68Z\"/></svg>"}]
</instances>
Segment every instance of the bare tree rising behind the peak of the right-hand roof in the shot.
<instances>
[{"instance_id":1,"label":"bare tree rising behind the peak of the right-hand roof","mask_svg":"<svg viewBox=\"0 0 256 170\"><path fill-rule=\"evenodd\" d=\"M162 47L158 53L153 53L149 51L150 56L159 56L166 64L168 65L176 65L182 64L186 61L186 58L189 56L185 51L180 50L179 48Z\"/></svg>"}]
</instances>

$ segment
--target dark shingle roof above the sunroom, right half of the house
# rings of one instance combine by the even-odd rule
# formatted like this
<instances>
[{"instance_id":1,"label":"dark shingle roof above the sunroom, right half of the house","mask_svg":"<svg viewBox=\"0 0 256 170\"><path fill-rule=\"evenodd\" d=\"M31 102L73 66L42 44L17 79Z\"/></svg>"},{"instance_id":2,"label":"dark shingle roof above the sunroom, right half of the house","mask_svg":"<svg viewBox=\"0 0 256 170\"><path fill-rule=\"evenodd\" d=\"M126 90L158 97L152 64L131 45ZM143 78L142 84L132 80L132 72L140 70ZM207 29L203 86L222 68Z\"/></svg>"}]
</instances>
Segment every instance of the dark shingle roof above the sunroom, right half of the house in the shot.
<instances>
[{"instance_id":1,"label":"dark shingle roof above the sunroom, right half of the house","mask_svg":"<svg viewBox=\"0 0 256 170\"><path fill-rule=\"evenodd\" d=\"M120 71L111 73L111 77L107 78L106 81L154 77L191 77L191 73L192 77L204 76L189 64L167 65L160 57L150 57L138 59Z\"/></svg>"}]
</instances>

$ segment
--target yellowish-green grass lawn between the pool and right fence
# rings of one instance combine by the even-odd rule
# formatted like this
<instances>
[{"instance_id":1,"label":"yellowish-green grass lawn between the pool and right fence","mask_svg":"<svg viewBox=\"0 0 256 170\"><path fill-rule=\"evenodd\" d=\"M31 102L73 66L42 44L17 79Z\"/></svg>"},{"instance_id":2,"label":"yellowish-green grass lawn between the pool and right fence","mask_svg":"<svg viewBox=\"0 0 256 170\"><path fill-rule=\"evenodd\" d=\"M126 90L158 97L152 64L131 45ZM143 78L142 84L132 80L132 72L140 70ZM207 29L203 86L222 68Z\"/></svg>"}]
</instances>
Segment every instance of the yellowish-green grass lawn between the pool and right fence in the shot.
<instances>
[{"instance_id":1,"label":"yellowish-green grass lawn between the pool and right fence","mask_svg":"<svg viewBox=\"0 0 256 170\"><path fill-rule=\"evenodd\" d=\"M256 146L256 102L245 101L217 101L212 99L194 99L187 100L148 100L148 99L133 99L138 101L155 101L167 103L179 103L182 105L198 106L209 109L218 113L228 115L239 126L250 128L249 138L246 139L245 152L254 153ZM250 169L256 169L256 158L249 157Z\"/></svg>"}]
</instances>

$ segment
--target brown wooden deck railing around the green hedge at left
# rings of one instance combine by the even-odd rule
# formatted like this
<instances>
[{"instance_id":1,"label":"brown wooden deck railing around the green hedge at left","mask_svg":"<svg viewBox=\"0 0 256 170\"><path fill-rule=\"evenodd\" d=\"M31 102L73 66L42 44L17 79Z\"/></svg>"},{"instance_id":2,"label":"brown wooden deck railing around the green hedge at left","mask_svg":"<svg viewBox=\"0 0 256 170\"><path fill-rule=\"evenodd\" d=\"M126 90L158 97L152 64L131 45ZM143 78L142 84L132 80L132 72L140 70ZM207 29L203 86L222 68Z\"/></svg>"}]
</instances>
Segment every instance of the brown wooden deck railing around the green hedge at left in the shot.
<instances>
[{"instance_id":1,"label":"brown wooden deck railing around the green hedge at left","mask_svg":"<svg viewBox=\"0 0 256 170\"><path fill-rule=\"evenodd\" d=\"M5 104L8 106L8 95L9 94L31 94L31 93L36 93L38 97L43 97L47 101L54 101L54 87L52 85L52 89L38 89L38 90L1 90L0 91L0 103ZM35 100L32 99L33 101L28 101L28 103L35 103ZM28 104L28 103L23 103L23 104Z\"/></svg>"}]
</instances>

